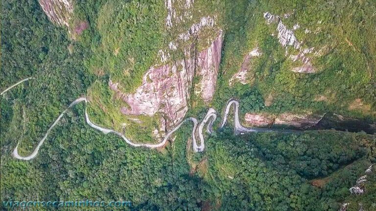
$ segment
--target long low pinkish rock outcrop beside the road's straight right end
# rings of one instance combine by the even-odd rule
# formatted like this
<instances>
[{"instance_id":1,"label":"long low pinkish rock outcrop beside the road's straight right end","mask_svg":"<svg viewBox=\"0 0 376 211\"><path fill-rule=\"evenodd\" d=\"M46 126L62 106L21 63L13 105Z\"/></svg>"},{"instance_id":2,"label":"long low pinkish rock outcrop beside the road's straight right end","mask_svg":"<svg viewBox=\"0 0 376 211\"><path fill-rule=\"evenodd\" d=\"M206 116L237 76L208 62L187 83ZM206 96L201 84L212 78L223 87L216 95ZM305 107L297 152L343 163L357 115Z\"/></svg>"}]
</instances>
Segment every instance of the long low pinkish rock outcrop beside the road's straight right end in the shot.
<instances>
[{"instance_id":1,"label":"long low pinkish rock outcrop beside the road's straight right end","mask_svg":"<svg viewBox=\"0 0 376 211\"><path fill-rule=\"evenodd\" d=\"M312 127L320 122L321 119L322 116L313 115L310 112L307 112L306 114L282 113L279 115L266 113L246 113L244 117L245 122L253 127L284 125L299 129Z\"/></svg>"}]
</instances>

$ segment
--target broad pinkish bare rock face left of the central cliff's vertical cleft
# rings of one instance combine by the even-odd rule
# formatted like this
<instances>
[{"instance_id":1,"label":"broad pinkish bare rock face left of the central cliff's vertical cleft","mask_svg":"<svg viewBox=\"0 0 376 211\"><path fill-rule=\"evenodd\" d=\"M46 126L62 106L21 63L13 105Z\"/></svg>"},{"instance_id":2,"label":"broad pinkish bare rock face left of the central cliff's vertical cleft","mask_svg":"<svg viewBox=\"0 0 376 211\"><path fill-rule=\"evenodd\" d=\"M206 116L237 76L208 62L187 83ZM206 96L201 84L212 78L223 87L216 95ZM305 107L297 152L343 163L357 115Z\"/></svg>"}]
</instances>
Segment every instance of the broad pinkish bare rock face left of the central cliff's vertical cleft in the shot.
<instances>
[{"instance_id":1,"label":"broad pinkish bare rock face left of the central cliff's vertical cleft","mask_svg":"<svg viewBox=\"0 0 376 211\"><path fill-rule=\"evenodd\" d=\"M178 64L182 65L182 69L177 68ZM117 91L118 97L129 105L129 108L121 108L123 114L153 116L160 111L168 117L167 125L172 126L182 120L188 110L187 100L193 80L193 64L188 59L173 66L164 65L149 69L142 79L142 85L134 94L121 93L118 84L112 81L109 85Z\"/></svg>"}]
</instances>

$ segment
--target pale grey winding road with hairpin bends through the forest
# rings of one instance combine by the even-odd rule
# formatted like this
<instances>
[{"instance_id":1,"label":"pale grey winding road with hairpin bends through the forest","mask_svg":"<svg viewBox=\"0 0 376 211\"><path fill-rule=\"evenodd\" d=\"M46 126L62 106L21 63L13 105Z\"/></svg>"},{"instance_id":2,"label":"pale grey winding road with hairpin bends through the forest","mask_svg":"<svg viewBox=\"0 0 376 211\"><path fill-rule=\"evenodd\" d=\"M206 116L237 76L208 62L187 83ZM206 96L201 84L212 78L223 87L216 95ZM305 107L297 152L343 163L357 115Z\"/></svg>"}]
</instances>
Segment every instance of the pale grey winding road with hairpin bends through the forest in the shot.
<instances>
[{"instance_id":1,"label":"pale grey winding road with hairpin bends through the forest","mask_svg":"<svg viewBox=\"0 0 376 211\"><path fill-rule=\"evenodd\" d=\"M30 78L28 78L28 79L30 79ZM21 82L18 82L17 84L12 85L11 87L7 88L5 91L11 89L12 87L14 87L14 86L16 86L16 85L18 85L18 84L20 84L20 83L22 83L22 82L24 82L24 81L26 81L28 79L22 80ZM80 97L80 98L76 99L75 101L73 101L71 103L71 105L69 105L68 108L65 109L59 115L59 117L55 120L55 122L51 125L51 127L48 128L48 130L47 130L46 134L44 135L44 137L39 141L37 147L34 149L34 151L29 156L23 157L23 156L20 156L18 154L18 146L19 146L19 143L18 143L17 146L16 146L16 148L14 148L14 150L13 150L13 153L12 153L13 157L15 157L17 159L20 159L20 160L31 160L31 159L35 158L37 156L37 154L38 154L39 148L42 146L43 142L46 140L46 138L47 138L49 132L51 131L51 129L56 126L56 124L60 121L60 119L67 112L68 109L70 109L72 106L74 106L74 105L76 105L78 103L81 103L81 102L84 102L85 105L86 105L86 103L88 101L87 101L87 99L85 97ZM300 132L303 132L303 130L292 130L292 129L243 127L240 124L240 121L239 121L239 112L238 112L238 110L239 110L239 102L237 100L235 100L235 99L230 99L227 102L225 110L224 110L224 113L223 113L223 119L222 119L222 123L221 123L220 128L223 128L226 125L227 119L228 119L228 115L229 115L229 113L231 111L230 109L231 109L232 106L233 106L233 109L234 109L234 132L235 132L235 134L244 134L244 133L250 133L250 132L282 132L282 133L300 133ZM198 130L197 130L198 121L197 121L196 118L189 117L189 118L183 120L176 127L174 127L173 129L171 129L164 136L164 138L162 139L162 141L159 142L158 144L138 144L138 143L133 143L127 137L125 137L123 134L121 134L121 133L119 133L119 132L117 132L115 130L104 128L104 127L99 127L99 126L95 125L90 120L90 118L89 118L86 106L85 106L85 118L86 118L86 122L89 124L90 127L93 127L95 129L103 132L104 134L115 133L119 137L121 137L127 144L129 144L129 145L131 145L133 147L146 147L146 148L160 148L160 147L163 147L165 145L166 141L168 140L168 138L171 136L171 134L173 132L175 132L177 129L179 129L185 122L191 121L193 123L193 128L192 128L193 150L195 152L202 152L205 149L205 140L204 140L204 135L203 135L203 128L204 128L205 125L207 125L206 131L209 134L212 133L212 126L213 126L214 121L217 118L217 112L213 108L209 108L209 110L208 110L207 114L205 115L204 119L199 124ZM319 129L326 129L326 128L325 127L321 127ZM200 144L199 145L197 144L196 135L198 136L198 139L200 140Z\"/></svg>"}]
</instances>

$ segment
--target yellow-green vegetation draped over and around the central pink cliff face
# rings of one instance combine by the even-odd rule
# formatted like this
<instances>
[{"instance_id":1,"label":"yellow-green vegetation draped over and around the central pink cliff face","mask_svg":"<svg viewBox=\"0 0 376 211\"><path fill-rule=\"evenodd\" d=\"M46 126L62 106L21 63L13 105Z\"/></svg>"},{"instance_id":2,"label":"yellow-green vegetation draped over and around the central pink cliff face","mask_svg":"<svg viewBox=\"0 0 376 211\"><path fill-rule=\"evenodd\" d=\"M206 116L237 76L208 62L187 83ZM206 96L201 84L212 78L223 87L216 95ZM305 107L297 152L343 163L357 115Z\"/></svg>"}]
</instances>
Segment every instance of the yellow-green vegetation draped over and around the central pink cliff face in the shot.
<instances>
[{"instance_id":1,"label":"yellow-green vegetation draped over and around the central pink cliff face","mask_svg":"<svg viewBox=\"0 0 376 211\"><path fill-rule=\"evenodd\" d=\"M176 17L186 16L185 1L173 3ZM198 24L201 17L217 17L220 22L220 10L222 2L197 2L192 5L191 18L179 23L174 22L171 28L165 23L167 10L164 1L128 1L110 0L107 2L78 2L79 17L86 14L91 20L92 34L86 32L83 39L91 38L90 48L92 57L85 59L85 65L97 76L97 81L88 91L89 96L95 98L90 102L89 113L94 117L94 122L111 127L118 131L122 125L132 123L135 117L120 113L126 103L119 102L115 93L108 86L108 80L118 83L118 89L122 93L132 93L142 83L142 77L152 66L163 64L172 65L173 62L185 58L185 48L189 48L192 42L197 50L207 48L207 40L216 36L218 29L206 28L197 36L191 36L188 42L178 39L179 34L187 34L193 24ZM93 7L97 8L94 12ZM218 23L219 25L219 23ZM85 37L87 36L87 37ZM176 51L169 50L169 42L174 42L178 47ZM159 51L170 55L166 61L161 61ZM181 68L179 66L179 68ZM117 103L114 103L117 101ZM151 136L153 127L159 121L159 114L155 117L141 117L148 124L127 127L125 134L137 142L155 142ZM140 117L137 117L140 119ZM142 131L142 132L140 132ZM142 134L147 134L142 135Z\"/></svg>"}]
</instances>

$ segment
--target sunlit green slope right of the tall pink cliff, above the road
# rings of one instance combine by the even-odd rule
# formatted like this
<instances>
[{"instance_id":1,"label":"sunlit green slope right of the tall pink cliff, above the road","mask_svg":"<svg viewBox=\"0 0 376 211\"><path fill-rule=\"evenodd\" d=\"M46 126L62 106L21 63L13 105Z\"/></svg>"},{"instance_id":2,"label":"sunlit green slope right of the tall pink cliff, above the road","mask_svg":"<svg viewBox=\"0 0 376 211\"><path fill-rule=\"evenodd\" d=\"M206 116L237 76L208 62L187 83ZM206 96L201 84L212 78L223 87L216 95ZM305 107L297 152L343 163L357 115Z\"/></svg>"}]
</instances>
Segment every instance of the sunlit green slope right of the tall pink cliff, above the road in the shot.
<instances>
[{"instance_id":1,"label":"sunlit green slope right of the tall pink cliff, above the road","mask_svg":"<svg viewBox=\"0 0 376 211\"><path fill-rule=\"evenodd\" d=\"M294 10L294 8L299 8ZM227 30L224 39L223 58L219 87L214 103L221 108L229 97L240 98L250 88L272 104L266 112L281 113L312 110L317 113L333 111L344 115L375 119L376 44L373 42L376 26L375 2L359 3L336 1L235 1L226 4ZM315 74L294 73L293 63L285 56L285 49L277 39L277 24L266 24L263 13L281 16L283 24L294 31L302 49L314 47L322 56L312 53L311 63L317 68ZM283 18L284 14L291 14ZM311 33L305 33L305 29ZM275 34L275 36L272 36ZM252 58L249 65L249 84L228 80L240 69L241 63L251 49L259 47L262 55ZM291 46L288 54L297 55L299 50ZM253 78L253 80L251 80ZM315 100L325 96L325 100ZM354 103L361 99L363 105ZM355 108L349 109L349 105Z\"/></svg>"}]
</instances>

